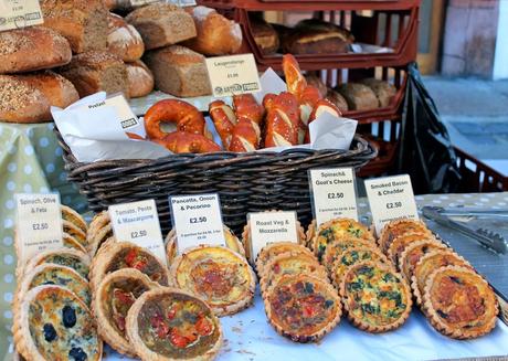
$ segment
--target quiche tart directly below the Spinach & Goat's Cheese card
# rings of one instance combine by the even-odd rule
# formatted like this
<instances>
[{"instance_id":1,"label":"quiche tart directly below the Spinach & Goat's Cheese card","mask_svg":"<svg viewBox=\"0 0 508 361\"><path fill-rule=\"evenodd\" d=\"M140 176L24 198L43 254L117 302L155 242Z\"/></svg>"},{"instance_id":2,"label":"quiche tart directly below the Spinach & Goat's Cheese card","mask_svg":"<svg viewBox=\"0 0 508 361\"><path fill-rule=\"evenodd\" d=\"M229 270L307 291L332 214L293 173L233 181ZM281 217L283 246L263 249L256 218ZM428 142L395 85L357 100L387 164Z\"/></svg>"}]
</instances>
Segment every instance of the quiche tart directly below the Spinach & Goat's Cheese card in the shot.
<instances>
[{"instance_id":1,"label":"quiche tart directly below the Spinach & Goat's Cheese card","mask_svg":"<svg viewBox=\"0 0 508 361\"><path fill-rule=\"evenodd\" d=\"M336 219L319 226L311 242L313 249L318 259L321 261L329 244L351 237L374 243L374 237L370 230L360 222L352 219Z\"/></svg>"}]
</instances>

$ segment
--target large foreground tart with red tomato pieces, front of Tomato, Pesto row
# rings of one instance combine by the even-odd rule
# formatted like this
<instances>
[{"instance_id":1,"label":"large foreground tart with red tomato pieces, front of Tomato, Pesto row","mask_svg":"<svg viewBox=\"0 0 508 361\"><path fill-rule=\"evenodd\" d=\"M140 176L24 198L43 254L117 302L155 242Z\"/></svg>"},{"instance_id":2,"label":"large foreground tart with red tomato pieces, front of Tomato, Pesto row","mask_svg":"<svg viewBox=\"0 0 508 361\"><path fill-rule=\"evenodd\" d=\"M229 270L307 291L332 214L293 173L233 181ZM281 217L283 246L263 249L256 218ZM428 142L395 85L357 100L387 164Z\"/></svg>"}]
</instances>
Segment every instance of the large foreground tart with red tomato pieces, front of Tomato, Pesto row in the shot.
<instances>
[{"instance_id":1,"label":"large foreground tart with red tomato pieces, front of Tomato, Pesto row","mask_svg":"<svg viewBox=\"0 0 508 361\"><path fill-rule=\"evenodd\" d=\"M221 323L210 307L169 287L142 294L127 314L126 329L142 361L213 360L222 344Z\"/></svg>"}]
</instances>

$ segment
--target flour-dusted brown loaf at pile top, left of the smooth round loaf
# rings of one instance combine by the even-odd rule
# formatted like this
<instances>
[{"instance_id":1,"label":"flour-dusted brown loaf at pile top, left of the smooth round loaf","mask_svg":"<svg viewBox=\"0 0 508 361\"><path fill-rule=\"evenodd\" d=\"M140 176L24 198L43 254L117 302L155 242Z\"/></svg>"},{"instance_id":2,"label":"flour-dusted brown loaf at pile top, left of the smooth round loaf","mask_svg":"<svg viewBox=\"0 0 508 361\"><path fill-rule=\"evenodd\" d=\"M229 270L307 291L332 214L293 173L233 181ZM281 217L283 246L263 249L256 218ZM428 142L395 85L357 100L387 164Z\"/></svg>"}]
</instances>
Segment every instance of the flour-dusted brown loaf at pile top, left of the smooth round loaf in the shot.
<instances>
[{"instance_id":1,"label":"flour-dusted brown loaf at pile top, left of the smooth round loaf","mask_svg":"<svg viewBox=\"0 0 508 361\"><path fill-rule=\"evenodd\" d=\"M192 17L169 3L139 8L125 20L139 31L146 50L176 44L197 35Z\"/></svg>"}]
</instances>

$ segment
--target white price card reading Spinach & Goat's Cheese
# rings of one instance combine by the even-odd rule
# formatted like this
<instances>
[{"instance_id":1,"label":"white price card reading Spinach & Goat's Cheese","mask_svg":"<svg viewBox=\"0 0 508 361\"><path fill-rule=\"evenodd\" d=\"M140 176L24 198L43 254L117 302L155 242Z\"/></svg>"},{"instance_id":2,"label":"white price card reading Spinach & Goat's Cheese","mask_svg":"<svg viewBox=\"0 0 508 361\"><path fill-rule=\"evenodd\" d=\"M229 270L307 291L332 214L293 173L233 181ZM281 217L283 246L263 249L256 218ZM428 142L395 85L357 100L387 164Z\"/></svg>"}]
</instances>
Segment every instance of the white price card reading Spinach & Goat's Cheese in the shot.
<instances>
[{"instance_id":1,"label":"white price card reading Spinach & Goat's Cheese","mask_svg":"<svg viewBox=\"0 0 508 361\"><path fill-rule=\"evenodd\" d=\"M317 226L337 217L358 221L352 168L311 169L309 181Z\"/></svg>"}]
</instances>

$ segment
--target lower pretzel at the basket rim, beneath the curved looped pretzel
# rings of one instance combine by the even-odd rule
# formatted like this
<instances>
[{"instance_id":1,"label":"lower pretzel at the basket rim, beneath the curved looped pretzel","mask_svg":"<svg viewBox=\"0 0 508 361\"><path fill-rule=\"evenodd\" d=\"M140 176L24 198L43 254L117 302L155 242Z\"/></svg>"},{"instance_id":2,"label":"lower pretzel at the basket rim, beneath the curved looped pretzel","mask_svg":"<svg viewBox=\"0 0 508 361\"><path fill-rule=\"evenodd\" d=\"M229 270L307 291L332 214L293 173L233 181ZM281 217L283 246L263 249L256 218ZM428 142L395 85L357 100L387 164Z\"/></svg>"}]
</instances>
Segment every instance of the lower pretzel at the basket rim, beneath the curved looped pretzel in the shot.
<instances>
[{"instance_id":1,"label":"lower pretzel at the basket rim, beneath the curved looped pretzel","mask_svg":"<svg viewBox=\"0 0 508 361\"><path fill-rule=\"evenodd\" d=\"M173 153L208 153L221 151L221 147L207 137L187 131L173 131L162 139L156 139L155 141L166 149L171 150Z\"/></svg>"}]
</instances>

